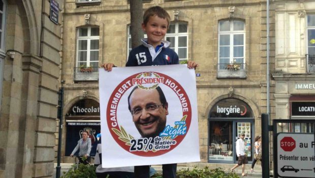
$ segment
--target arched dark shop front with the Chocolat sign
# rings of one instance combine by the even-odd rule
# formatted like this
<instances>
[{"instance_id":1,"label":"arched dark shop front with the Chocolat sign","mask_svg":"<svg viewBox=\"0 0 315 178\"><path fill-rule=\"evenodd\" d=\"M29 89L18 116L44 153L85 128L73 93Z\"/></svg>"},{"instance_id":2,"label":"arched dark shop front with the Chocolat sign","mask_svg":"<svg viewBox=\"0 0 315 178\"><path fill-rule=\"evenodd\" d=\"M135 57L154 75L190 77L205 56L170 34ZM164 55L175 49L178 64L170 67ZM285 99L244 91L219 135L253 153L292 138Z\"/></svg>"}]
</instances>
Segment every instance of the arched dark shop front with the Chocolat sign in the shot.
<instances>
[{"instance_id":1,"label":"arched dark shop front with the Chocolat sign","mask_svg":"<svg viewBox=\"0 0 315 178\"><path fill-rule=\"evenodd\" d=\"M72 105L65 118L67 130L65 156L70 156L78 141L82 138L83 131L89 132L88 137L92 143L90 156L95 156L96 136L101 132L100 104L92 99L79 100Z\"/></svg>"}]
</instances>

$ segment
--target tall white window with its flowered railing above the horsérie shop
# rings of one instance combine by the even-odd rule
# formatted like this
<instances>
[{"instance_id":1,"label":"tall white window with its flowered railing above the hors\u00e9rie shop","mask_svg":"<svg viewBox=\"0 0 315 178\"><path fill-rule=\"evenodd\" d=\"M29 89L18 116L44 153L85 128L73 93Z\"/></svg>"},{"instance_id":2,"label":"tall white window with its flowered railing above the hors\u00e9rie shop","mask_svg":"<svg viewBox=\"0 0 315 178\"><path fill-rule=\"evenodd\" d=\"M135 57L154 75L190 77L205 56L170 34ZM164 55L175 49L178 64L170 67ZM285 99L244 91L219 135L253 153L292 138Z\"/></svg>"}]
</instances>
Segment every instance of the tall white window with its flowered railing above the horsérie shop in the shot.
<instances>
[{"instance_id":1,"label":"tall white window with its flowered railing above the hors\u00e9rie shop","mask_svg":"<svg viewBox=\"0 0 315 178\"><path fill-rule=\"evenodd\" d=\"M218 77L245 77L245 22L218 24Z\"/></svg>"}]
</instances>

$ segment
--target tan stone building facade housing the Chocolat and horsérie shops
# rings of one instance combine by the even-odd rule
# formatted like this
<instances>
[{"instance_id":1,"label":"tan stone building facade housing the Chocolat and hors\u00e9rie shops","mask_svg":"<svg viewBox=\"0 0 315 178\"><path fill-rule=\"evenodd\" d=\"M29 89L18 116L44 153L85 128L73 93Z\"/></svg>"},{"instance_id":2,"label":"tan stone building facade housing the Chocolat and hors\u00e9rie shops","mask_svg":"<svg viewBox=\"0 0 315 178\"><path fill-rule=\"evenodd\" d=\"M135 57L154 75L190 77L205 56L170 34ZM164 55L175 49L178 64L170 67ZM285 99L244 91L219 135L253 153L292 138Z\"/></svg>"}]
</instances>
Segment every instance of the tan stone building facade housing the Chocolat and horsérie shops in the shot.
<instances>
[{"instance_id":1,"label":"tan stone building facade housing the Chocolat and hors\u00e9rie shops","mask_svg":"<svg viewBox=\"0 0 315 178\"><path fill-rule=\"evenodd\" d=\"M261 114L267 112L266 1L143 1L143 10L151 6L161 6L171 15L166 38L174 42L180 60L200 64L196 79L201 162L234 164L236 139L245 132L247 146L253 145L255 136L261 135ZM65 1L61 70L61 80L65 80L64 162L72 161L68 156L75 146L69 145L69 136L86 128L92 137L98 132L99 128L87 124L100 121L99 113L91 112L99 103L97 68L105 62L116 66L127 62L129 9L128 1ZM270 23L274 28L274 20ZM274 31L270 36L274 39ZM274 40L271 44L274 46ZM270 54L274 64L273 48ZM273 93L274 82L270 84ZM272 94L270 104L274 116ZM90 112L79 113L79 107ZM241 112L220 112L230 107ZM72 126L78 122L84 126ZM248 152L250 160L253 148Z\"/></svg>"}]
</instances>

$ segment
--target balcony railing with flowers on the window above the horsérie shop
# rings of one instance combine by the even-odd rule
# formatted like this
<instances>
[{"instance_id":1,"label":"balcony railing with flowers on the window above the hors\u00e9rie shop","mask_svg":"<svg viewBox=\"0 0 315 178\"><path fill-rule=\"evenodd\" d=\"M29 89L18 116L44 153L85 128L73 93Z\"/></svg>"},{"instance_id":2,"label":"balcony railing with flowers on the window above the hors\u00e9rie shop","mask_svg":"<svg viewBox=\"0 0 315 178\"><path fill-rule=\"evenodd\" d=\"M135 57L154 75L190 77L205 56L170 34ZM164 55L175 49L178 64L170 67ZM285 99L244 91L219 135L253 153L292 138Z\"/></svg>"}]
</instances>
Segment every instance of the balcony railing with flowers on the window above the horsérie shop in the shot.
<instances>
[{"instance_id":1,"label":"balcony railing with flowers on the window above the hors\u00e9rie shop","mask_svg":"<svg viewBox=\"0 0 315 178\"><path fill-rule=\"evenodd\" d=\"M221 63L217 64L218 78L245 78L245 63Z\"/></svg>"}]
</instances>

